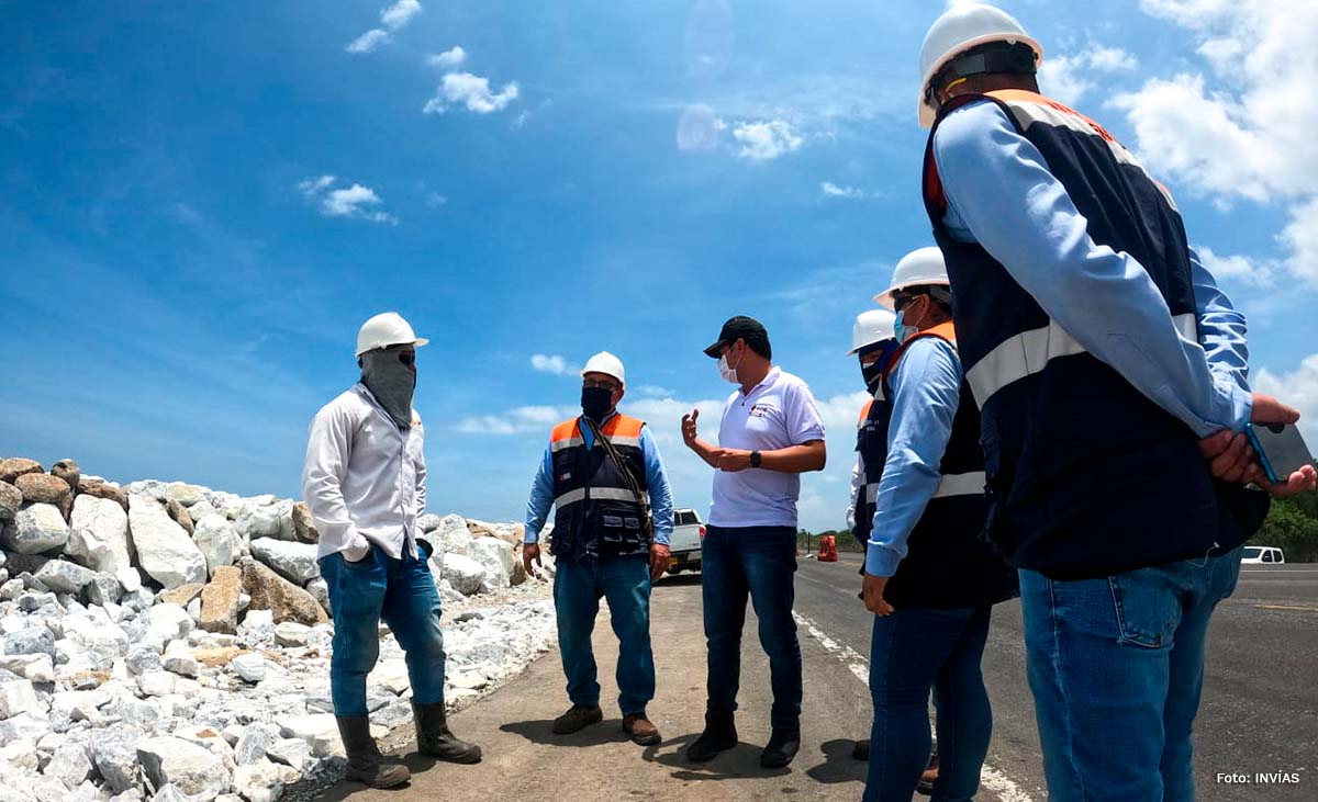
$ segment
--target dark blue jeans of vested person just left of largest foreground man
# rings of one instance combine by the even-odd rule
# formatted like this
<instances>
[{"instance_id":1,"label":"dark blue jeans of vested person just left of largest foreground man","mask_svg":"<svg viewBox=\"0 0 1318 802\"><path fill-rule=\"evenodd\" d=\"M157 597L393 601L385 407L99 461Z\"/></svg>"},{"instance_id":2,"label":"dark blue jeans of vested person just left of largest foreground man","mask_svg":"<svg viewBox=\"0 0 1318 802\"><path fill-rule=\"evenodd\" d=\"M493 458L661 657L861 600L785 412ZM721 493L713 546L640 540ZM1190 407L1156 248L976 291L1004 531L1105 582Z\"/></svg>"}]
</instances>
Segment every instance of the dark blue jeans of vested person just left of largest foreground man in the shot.
<instances>
[{"instance_id":1,"label":"dark blue jeans of vested person just left of largest foreground man","mask_svg":"<svg viewBox=\"0 0 1318 802\"><path fill-rule=\"evenodd\" d=\"M929 689L937 710L933 799L973 799L988 753L992 710L979 661L990 607L908 607L874 616L870 641L870 768L865 802L911 802L929 761Z\"/></svg>"}]
</instances>

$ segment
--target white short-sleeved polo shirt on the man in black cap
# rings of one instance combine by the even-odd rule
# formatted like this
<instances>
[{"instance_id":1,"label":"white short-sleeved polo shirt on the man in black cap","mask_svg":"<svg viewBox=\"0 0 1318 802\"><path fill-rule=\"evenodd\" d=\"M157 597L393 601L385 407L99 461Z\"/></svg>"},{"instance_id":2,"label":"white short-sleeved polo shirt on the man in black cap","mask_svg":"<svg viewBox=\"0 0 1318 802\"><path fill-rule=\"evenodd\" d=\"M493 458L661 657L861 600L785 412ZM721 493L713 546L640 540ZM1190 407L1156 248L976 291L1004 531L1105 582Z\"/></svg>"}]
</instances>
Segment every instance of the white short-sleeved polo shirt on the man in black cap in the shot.
<instances>
[{"instance_id":1,"label":"white short-sleeved polo shirt on the man in black cap","mask_svg":"<svg viewBox=\"0 0 1318 802\"><path fill-rule=\"evenodd\" d=\"M774 367L743 395L728 396L718 424L718 445L771 452L824 440L824 419L809 386ZM709 523L716 527L795 527L801 475L762 468L714 471Z\"/></svg>"}]
</instances>

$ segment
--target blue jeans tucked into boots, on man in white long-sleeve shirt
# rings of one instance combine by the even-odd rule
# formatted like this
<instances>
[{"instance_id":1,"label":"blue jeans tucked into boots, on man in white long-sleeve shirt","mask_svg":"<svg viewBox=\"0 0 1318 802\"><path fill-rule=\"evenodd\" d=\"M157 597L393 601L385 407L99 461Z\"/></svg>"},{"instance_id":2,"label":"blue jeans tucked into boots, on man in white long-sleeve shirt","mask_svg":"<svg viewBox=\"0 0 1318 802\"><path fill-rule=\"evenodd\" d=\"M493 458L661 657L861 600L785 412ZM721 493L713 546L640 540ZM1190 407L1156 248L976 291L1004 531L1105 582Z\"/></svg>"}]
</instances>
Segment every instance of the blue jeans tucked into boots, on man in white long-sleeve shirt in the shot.
<instances>
[{"instance_id":1,"label":"blue jeans tucked into boots, on man in white long-sleeve shirt","mask_svg":"<svg viewBox=\"0 0 1318 802\"><path fill-rule=\"evenodd\" d=\"M378 547L357 562L341 553L320 558L330 586L333 657L330 695L335 715L366 715L366 674L380 657L380 622L389 624L407 656L413 701L444 701L444 635L439 629L439 594L424 557L389 557Z\"/></svg>"}]
</instances>

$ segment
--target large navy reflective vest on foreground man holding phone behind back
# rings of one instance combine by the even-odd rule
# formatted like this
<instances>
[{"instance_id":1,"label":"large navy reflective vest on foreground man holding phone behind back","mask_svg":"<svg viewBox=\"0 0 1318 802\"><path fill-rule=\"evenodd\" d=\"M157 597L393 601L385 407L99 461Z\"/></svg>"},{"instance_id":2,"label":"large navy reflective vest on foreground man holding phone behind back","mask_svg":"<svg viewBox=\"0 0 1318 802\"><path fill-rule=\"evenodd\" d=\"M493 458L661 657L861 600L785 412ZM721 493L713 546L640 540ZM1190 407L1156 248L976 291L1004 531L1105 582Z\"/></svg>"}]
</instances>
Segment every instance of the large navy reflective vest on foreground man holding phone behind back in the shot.
<instances>
[{"instance_id":1,"label":"large navy reflective vest on foreground man holding phone behind back","mask_svg":"<svg viewBox=\"0 0 1318 802\"><path fill-rule=\"evenodd\" d=\"M1267 498L1215 483L1189 427L1086 352L979 244L944 225L933 141L942 120L974 100L998 104L1039 149L1095 242L1144 266L1188 340L1198 338L1198 317L1176 204L1103 126L1020 90L960 96L944 109L925 147L924 201L982 415L990 537L1012 565L1056 579L1239 545L1261 523Z\"/></svg>"}]
</instances>

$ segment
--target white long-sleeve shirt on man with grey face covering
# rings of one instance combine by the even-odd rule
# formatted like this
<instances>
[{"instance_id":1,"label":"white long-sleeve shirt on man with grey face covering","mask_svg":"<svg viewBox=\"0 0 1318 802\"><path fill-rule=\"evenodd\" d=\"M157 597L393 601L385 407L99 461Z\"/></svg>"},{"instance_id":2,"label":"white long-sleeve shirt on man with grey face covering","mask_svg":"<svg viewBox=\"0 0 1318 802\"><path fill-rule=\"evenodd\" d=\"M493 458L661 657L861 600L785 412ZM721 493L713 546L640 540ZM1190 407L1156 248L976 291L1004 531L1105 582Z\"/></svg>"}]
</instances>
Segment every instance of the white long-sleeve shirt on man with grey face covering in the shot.
<instances>
[{"instance_id":1,"label":"white long-sleeve shirt on man with grey face covering","mask_svg":"<svg viewBox=\"0 0 1318 802\"><path fill-rule=\"evenodd\" d=\"M416 516L426 508L426 432L413 412L401 431L366 386L333 399L311 421L302 498L320 533L318 557L360 560L374 544L390 557L416 556Z\"/></svg>"}]
</instances>

